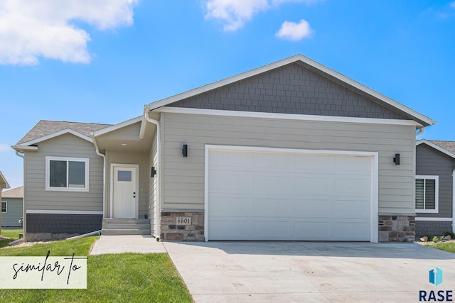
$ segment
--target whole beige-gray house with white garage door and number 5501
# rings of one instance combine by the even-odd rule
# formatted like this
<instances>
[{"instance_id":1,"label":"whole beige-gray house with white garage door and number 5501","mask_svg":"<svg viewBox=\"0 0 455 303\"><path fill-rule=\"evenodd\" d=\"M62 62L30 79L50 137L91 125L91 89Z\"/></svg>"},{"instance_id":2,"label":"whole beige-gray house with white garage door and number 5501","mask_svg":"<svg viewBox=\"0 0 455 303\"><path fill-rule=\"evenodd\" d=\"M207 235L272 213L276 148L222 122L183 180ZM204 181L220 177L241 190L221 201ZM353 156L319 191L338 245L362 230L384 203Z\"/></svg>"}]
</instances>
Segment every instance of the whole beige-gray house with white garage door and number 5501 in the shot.
<instances>
[{"instance_id":1,"label":"whole beige-gray house with white garage door and number 5501","mask_svg":"<svg viewBox=\"0 0 455 303\"><path fill-rule=\"evenodd\" d=\"M389 242L414 241L415 136L434 121L295 55L113 126L43 123L13 147L26 237Z\"/></svg>"}]
</instances>

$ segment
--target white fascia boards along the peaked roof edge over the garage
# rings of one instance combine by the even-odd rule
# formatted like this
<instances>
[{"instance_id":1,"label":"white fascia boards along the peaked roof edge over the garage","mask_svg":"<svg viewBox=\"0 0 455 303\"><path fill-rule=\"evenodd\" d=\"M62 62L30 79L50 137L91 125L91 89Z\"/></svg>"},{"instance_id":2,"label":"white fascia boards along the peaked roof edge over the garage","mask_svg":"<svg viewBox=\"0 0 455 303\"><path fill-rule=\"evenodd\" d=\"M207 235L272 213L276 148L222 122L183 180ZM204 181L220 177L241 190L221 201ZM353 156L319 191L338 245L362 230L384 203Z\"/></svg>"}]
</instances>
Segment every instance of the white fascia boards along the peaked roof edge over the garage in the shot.
<instances>
[{"instance_id":1,"label":"white fascia boards along the peaked roof edge over the garage","mask_svg":"<svg viewBox=\"0 0 455 303\"><path fill-rule=\"evenodd\" d=\"M220 87L223 87L225 85L241 81L243 79L247 79L249 77L253 77L255 75L262 74L263 72L269 72L270 70L274 70L277 67L282 67L284 65L288 65L293 62L302 62L306 65L309 65L316 70L320 70L321 72L325 73L326 75L329 75L330 77L333 77L335 79L338 79L341 82L344 82L350 87L354 87L355 89L359 89L362 92L365 92L366 94L369 94L370 96L379 99L380 101L383 101L385 104L389 104L390 106L395 107L395 109L398 109L399 111L403 111L406 114L414 117L415 119L419 121L423 121L424 123L427 123L428 125L433 125L436 123L436 121L433 121L432 119L429 119L427 116L424 116L422 114L419 114L417 111L414 111L410 109L409 107L400 104L399 102L392 100L388 97L385 97L383 94L380 94L373 89L370 89L369 87L365 87L365 85L360 84L359 82L354 81L353 79L350 79L344 75L341 75L339 72L336 72L334 70L331 70L330 68L319 64L316 61L313 61L309 59L308 57L305 57L304 55L294 55L292 57L289 57L284 60L279 60L277 62L271 63L269 65L264 65L262 67L256 68L255 70L250 70L248 72L243 72L242 74L235 75L232 77L228 77L226 79L220 80L218 82L213 82L211 84L204 85L203 87L198 87L196 89L191 89L188 92L183 92L181 94L176 94L175 96L168 97L166 99L161 99L159 101L151 103L150 110L157 109L161 106L166 106L168 104L171 104L173 102L179 101L181 99L186 99L189 97L194 97L198 94L203 94L204 92L208 92L212 89L218 89Z\"/></svg>"}]
</instances>

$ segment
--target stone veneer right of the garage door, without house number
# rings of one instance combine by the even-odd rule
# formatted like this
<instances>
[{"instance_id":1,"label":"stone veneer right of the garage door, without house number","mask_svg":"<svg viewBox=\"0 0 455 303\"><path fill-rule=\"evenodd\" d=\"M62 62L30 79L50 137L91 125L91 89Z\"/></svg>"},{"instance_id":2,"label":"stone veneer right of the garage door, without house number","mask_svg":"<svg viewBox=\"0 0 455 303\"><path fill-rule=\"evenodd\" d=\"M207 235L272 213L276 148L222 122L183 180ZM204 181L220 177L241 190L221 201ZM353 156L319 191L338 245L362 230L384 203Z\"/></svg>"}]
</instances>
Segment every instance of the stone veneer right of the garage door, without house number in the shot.
<instances>
[{"instance_id":1,"label":"stone veneer right of the garage door, without house number","mask_svg":"<svg viewBox=\"0 0 455 303\"><path fill-rule=\"evenodd\" d=\"M378 219L379 242L414 242L415 216L380 215Z\"/></svg>"}]
</instances>

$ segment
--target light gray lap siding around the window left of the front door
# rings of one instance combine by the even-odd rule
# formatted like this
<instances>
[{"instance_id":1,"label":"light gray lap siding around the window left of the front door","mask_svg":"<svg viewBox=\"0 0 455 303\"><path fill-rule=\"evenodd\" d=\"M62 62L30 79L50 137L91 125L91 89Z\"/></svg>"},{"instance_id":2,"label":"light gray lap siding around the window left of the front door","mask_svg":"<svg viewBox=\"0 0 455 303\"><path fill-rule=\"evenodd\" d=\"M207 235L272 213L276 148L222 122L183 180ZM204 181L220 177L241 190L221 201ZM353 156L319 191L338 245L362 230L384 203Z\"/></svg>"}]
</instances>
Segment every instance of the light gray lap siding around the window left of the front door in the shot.
<instances>
[{"instance_id":1,"label":"light gray lap siding around the window left of the front door","mask_svg":"<svg viewBox=\"0 0 455 303\"><path fill-rule=\"evenodd\" d=\"M45 157L90 159L89 192L45 190ZM102 158L92 143L65 134L38 144L37 152L26 152L24 199L26 209L60 211L102 211Z\"/></svg>"}]
</instances>

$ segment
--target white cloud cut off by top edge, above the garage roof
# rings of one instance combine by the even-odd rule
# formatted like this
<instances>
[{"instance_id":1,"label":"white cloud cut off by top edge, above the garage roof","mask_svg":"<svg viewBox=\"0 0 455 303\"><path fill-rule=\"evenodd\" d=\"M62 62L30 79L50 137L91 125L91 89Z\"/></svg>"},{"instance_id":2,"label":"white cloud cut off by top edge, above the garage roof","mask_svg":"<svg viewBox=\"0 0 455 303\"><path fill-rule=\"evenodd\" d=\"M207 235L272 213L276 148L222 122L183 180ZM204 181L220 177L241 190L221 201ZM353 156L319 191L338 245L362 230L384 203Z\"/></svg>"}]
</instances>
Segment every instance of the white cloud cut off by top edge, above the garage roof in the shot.
<instances>
[{"instance_id":1,"label":"white cloud cut off by top edge, above the garage roof","mask_svg":"<svg viewBox=\"0 0 455 303\"><path fill-rule=\"evenodd\" d=\"M260 11L267 11L287 2L313 4L319 1L321 0L207 0L205 18L221 21L224 31L237 31Z\"/></svg>"}]
</instances>

